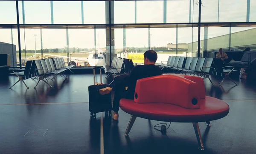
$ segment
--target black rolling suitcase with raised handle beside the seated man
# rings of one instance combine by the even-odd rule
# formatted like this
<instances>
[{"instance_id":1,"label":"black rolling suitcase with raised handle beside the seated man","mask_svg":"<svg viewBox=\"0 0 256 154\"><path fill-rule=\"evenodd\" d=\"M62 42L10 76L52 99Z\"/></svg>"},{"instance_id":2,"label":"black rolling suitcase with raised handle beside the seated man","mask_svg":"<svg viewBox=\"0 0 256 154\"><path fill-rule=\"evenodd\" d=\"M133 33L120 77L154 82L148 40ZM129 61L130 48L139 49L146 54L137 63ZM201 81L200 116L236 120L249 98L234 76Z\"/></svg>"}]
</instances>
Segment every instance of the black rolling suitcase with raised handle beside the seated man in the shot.
<instances>
[{"instance_id":1,"label":"black rolling suitcase with raised handle beside the seated man","mask_svg":"<svg viewBox=\"0 0 256 154\"><path fill-rule=\"evenodd\" d=\"M95 69L100 69L100 84L101 85L95 85ZM93 68L93 85L88 87L89 91L89 111L91 117L95 118L96 113L104 112L105 114L108 113L111 115L112 110L112 103L111 103L111 93L101 95L99 94L99 89L106 88L109 85L102 84L102 71L101 67L95 67Z\"/></svg>"}]
</instances>

